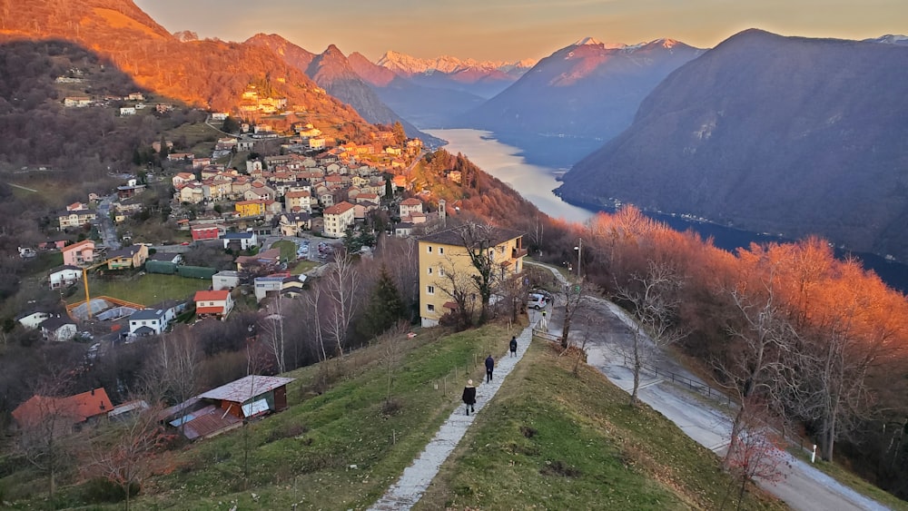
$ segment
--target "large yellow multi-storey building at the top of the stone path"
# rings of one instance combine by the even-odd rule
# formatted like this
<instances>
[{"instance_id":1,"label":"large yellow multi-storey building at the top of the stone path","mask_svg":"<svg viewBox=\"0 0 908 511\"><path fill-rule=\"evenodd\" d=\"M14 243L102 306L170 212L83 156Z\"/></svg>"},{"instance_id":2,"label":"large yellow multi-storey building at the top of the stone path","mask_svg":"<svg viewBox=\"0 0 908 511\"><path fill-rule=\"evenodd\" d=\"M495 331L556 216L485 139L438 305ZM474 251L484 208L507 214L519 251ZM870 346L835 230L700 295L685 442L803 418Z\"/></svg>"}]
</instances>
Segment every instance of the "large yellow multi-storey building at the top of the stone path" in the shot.
<instances>
[{"instance_id":1,"label":"large yellow multi-storey building at the top of the stone path","mask_svg":"<svg viewBox=\"0 0 908 511\"><path fill-rule=\"evenodd\" d=\"M451 275L459 275L459 281L467 282L469 276L479 272L473 267L464 241L463 228L453 228L435 232L419 238L419 316L423 327L434 327L439 319L450 310L457 308L451 297ZM504 281L523 270L523 258L527 250L523 248L523 233L509 229L491 228L482 231L482 236L466 238L473 240L474 247L484 247L495 268L495 281ZM471 290L475 295L476 307L481 307L479 290ZM494 301L494 297L492 299Z\"/></svg>"}]
</instances>

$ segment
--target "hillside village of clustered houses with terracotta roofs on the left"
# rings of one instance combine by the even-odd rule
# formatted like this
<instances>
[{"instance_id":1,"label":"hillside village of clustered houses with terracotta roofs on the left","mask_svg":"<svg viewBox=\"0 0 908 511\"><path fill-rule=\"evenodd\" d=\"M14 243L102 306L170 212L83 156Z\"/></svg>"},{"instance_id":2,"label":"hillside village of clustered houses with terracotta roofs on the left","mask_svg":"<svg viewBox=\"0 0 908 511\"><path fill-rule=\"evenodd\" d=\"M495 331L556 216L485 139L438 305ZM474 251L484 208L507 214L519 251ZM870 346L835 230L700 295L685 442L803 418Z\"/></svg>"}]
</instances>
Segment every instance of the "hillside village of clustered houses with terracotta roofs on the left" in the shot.
<instances>
[{"instance_id":1,"label":"hillside village of clustered houses with terracotta roofs on the left","mask_svg":"<svg viewBox=\"0 0 908 511\"><path fill-rule=\"evenodd\" d=\"M173 108L161 103L146 108L145 101L143 93L131 93L66 97L63 103L116 108L121 117ZM371 215L388 219L378 226L392 236L409 236L419 224L443 217L443 200L440 211L425 211L412 190L407 170L423 153L419 139L380 131L370 143L338 142L311 123L291 123L279 133L259 117L281 114L285 106L281 99L259 98L250 86L242 113L255 114L258 123L236 123L237 133L226 133L222 127L232 125L230 115L209 113L205 123L221 132L210 153L173 152L173 142L162 137L152 144L160 170L149 166L138 175L119 175L123 182L115 190L90 193L85 202L57 213L54 228L60 235L21 247L19 254L32 259L59 252L63 264L47 272L43 285L59 292L64 306L24 310L16 321L46 342L90 345L84 360L90 365L106 350L162 335L176 323L225 321L238 303L271 314L271 301L301 296L308 275L317 275L335 251L349 249L350 238L360 231L369 233L371 242L357 245L356 255L369 257L370 231L376 229ZM145 241L130 229L136 219L147 220L143 196L154 190L170 192L168 221L175 227L169 243ZM187 264L184 255L193 250L229 254L231 268ZM173 285L173 279L189 284ZM155 282L154 294L133 298L130 291L146 282ZM252 386L242 379L193 396L163 410L161 420L195 439L286 406L282 396L289 378L255 378ZM39 405L47 399L36 394L13 417L22 423L40 420L46 407ZM76 427L148 406L141 400L114 405L104 388L52 400Z\"/></svg>"}]
</instances>

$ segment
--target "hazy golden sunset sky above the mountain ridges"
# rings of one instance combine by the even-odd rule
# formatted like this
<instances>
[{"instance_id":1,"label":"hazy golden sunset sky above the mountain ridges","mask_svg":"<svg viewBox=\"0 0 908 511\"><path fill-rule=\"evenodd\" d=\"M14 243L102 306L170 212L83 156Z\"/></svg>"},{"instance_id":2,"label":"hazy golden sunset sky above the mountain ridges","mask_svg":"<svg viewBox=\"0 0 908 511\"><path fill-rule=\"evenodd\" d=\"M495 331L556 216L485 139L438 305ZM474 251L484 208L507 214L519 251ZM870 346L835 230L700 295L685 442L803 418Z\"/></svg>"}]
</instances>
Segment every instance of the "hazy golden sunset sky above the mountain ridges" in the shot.
<instances>
[{"instance_id":1,"label":"hazy golden sunset sky above the mountain ridges","mask_svg":"<svg viewBox=\"0 0 908 511\"><path fill-rule=\"evenodd\" d=\"M170 32L243 41L281 34L312 53L335 44L372 62L539 59L583 37L662 37L713 47L747 28L865 39L908 33L908 0L134 0Z\"/></svg>"}]
</instances>

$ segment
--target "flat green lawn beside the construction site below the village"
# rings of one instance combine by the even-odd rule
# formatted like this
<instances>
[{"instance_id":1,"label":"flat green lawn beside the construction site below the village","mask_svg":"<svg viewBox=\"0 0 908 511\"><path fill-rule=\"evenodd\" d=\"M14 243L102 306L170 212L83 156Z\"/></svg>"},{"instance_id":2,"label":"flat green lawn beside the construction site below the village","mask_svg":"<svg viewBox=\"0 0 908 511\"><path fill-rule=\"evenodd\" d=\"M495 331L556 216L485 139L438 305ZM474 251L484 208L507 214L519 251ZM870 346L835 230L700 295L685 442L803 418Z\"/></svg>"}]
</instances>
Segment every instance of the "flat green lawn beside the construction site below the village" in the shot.
<instances>
[{"instance_id":1,"label":"flat green lawn beside the construction site below the village","mask_svg":"<svg viewBox=\"0 0 908 511\"><path fill-rule=\"evenodd\" d=\"M111 272L108 271L109 275ZM89 273L89 293L93 297L109 296L120 300L133 301L143 305L153 305L163 300L187 300L197 290L207 290L212 286L210 279L184 279L177 275L147 273L133 280L109 279ZM67 301L75 303L85 300L84 290L80 289Z\"/></svg>"}]
</instances>

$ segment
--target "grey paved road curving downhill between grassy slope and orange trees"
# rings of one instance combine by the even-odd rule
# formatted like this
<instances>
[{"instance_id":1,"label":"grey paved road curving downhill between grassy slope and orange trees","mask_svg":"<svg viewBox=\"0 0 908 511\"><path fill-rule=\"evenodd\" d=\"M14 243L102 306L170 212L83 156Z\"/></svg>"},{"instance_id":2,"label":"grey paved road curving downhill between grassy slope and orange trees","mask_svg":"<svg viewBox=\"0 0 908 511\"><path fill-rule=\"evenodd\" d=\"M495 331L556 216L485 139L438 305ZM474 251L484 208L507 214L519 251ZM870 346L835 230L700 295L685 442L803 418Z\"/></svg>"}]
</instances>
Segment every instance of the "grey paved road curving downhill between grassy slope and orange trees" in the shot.
<instances>
[{"instance_id":1,"label":"grey paved road curving downhill between grassy slope and orange trees","mask_svg":"<svg viewBox=\"0 0 908 511\"><path fill-rule=\"evenodd\" d=\"M552 270L559 280L567 283L557 270L547 268ZM634 385L633 372L624 367L622 351L623 346L627 346L627 342L632 338L633 333L629 325L633 324L633 320L607 300L597 298L590 300L591 306L598 310L598 314L605 321L605 327L601 329L600 335L587 340L587 363L599 369L612 383L629 394ZM549 314L549 330L560 333L561 314L558 309L552 312ZM656 360L656 365L660 370L696 378L666 354ZM695 396L679 385L651 375L641 376L638 397L674 422L700 445L713 450L718 456L725 454L731 436L731 418L720 408L719 403L715 403L714 406L702 395ZM795 457L789 456L787 461L791 467L784 470L783 481L776 484L758 482L766 491L794 509L805 511L888 509Z\"/></svg>"}]
</instances>

